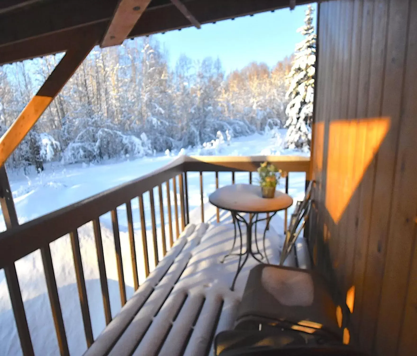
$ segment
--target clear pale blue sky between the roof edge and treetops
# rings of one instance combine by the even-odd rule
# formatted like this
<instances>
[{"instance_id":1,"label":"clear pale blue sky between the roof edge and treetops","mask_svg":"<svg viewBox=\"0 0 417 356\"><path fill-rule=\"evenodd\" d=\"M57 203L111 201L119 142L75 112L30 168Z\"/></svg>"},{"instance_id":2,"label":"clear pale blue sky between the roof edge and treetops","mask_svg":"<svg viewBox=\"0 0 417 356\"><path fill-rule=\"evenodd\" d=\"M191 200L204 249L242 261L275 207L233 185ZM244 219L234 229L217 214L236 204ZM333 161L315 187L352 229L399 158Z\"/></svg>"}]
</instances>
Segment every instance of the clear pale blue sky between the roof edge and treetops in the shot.
<instances>
[{"instance_id":1,"label":"clear pale blue sky between the roof edge and treetops","mask_svg":"<svg viewBox=\"0 0 417 356\"><path fill-rule=\"evenodd\" d=\"M316 6L314 5L314 8ZM254 16L237 17L216 24L184 28L154 35L169 53L170 66L175 66L183 53L192 60L219 57L223 69L229 73L250 62L265 62L270 67L294 52L302 36L296 32L304 23L307 6L297 6ZM314 12L315 17L316 12Z\"/></svg>"}]
</instances>

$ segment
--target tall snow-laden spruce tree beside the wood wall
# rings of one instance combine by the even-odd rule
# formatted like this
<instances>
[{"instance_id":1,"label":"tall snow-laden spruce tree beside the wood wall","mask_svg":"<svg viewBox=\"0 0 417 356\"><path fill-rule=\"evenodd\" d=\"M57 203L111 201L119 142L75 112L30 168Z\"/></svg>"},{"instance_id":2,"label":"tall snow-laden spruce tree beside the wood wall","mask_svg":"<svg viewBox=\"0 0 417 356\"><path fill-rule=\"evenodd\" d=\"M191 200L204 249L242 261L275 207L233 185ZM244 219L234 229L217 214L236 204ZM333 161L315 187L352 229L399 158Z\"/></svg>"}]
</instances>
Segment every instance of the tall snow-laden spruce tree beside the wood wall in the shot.
<instances>
[{"instance_id":1,"label":"tall snow-laden spruce tree beside the wood wall","mask_svg":"<svg viewBox=\"0 0 417 356\"><path fill-rule=\"evenodd\" d=\"M286 98L290 102L285 110L288 116L285 124L285 127L288 127L285 141L286 147L293 149L307 149L311 141L317 37L314 33L313 12L313 8L309 5L304 26L297 30L305 38L295 47L295 60L288 75L291 84L286 93Z\"/></svg>"}]
</instances>

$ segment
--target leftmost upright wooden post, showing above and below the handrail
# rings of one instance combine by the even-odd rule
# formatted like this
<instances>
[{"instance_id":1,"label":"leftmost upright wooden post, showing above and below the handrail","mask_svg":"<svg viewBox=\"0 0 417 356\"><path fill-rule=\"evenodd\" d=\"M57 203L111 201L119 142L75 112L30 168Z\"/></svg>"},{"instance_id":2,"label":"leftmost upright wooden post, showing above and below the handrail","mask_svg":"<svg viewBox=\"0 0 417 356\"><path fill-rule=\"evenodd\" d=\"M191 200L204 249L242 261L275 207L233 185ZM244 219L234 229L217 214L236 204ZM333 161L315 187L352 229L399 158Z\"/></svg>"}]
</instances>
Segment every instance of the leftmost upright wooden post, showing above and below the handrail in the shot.
<instances>
[{"instance_id":1,"label":"leftmost upright wooden post, showing above and below the handrail","mask_svg":"<svg viewBox=\"0 0 417 356\"><path fill-rule=\"evenodd\" d=\"M0 184L3 194L0 194L0 204L3 212L4 221L7 229L12 229L19 225L18 216L16 214L15 204L13 202L12 191L10 189L9 179L7 177L6 168L0 167ZM22 347L23 355L33 356L32 339L30 338L28 321L26 319L25 308L23 307L22 293L20 292L18 274L15 264L4 267L6 284L9 290L10 302L12 304L13 315L15 316L16 328Z\"/></svg>"}]
</instances>

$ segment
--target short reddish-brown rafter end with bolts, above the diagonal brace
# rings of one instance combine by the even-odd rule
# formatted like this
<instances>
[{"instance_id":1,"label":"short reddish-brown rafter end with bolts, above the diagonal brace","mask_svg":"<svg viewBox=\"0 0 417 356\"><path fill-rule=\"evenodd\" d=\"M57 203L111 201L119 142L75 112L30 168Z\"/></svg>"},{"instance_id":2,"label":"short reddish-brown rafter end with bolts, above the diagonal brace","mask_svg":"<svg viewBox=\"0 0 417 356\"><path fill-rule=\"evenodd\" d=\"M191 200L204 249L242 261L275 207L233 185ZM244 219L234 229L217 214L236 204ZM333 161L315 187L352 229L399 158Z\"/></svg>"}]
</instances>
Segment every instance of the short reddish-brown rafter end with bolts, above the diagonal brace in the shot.
<instances>
[{"instance_id":1,"label":"short reddish-brown rafter end with bolts, above the diagonal brace","mask_svg":"<svg viewBox=\"0 0 417 356\"><path fill-rule=\"evenodd\" d=\"M121 0L101 42L101 47L121 45L151 0Z\"/></svg>"}]
</instances>

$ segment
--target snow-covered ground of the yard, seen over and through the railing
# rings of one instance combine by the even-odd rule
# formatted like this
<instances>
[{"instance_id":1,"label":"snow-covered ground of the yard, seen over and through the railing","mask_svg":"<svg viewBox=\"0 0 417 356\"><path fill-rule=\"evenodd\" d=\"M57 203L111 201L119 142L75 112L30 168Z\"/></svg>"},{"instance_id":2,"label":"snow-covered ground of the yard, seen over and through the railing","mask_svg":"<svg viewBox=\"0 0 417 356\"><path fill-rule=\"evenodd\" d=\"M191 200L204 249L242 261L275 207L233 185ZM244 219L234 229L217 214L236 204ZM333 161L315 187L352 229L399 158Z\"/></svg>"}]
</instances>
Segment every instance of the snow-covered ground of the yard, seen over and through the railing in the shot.
<instances>
[{"instance_id":1,"label":"snow-covered ground of the yard, seen over and through the railing","mask_svg":"<svg viewBox=\"0 0 417 356\"><path fill-rule=\"evenodd\" d=\"M284 132L281 131L281 137ZM18 213L19 222L27 222L44 214L73 204L91 195L115 187L124 182L136 179L143 174L152 172L170 162L177 154L220 154L220 155L256 155L256 154L300 154L281 149L282 139L273 134L254 134L249 137L232 139L231 142L213 142L206 147L199 149L185 149L182 152L166 152L156 154L154 157L143 157L119 161L108 161L100 164L73 164L63 166L59 163L45 166L42 174L30 174L25 176L22 172L8 172L10 185L13 191L14 202ZM303 153L304 155L306 153ZM248 173L236 173L236 183L247 183ZM289 177L289 194L294 200L304 195L305 174L293 173ZM230 173L219 174L219 184L231 183ZM281 182L283 183L283 182ZM279 187L284 189L283 185ZM208 195L215 189L214 173L203 174L204 202L206 204L205 220L215 219L215 210L210 209ZM165 189L163 189L165 190ZM173 194L171 186L171 197ZM157 191L155 196L158 197ZM200 206L199 174L188 173L188 197L191 210L191 221L199 221ZM160 221L158 212L158 199L155 199L155 210L157 212L157 223ZM164 200L166 196L164 195ZM171 199L172 202L173 199ZM179 199L178 199L179 202ZM149 214L148 194L144 195L145 215ZM166 206L166 202L165 202ZM139 281L145 279L143 271L143 250L141 248L141 231L138 214L138 199L132 200L133 224L136 239L136 253L139 268ZM165 211L165 222L168 222L167 211ZM282 214L274 218L272 224L277 232L283 231ZM123 269L126 283L127 297L133 295L133 274L130 260L130 248L127 235L126 208L118 208L119 229L122 246ZM150 219L147 218L148 248L151 269L154 268L152 260L153 249L151 231L149 229ZM105 253L105 264L108 277L110 293L111 312L115 316L121 309L120 295L118 292L118 276L114 250L113 233L109 214L100 217L103 247ZM174 232L175 232L175 224ZM0 219L0 229L4 230L4 219ZM160 226L158 226L160 229ZM166 226L168 231L168 226ZM93 335L97 337L105 326L103 304L100 291L98 265L93 239L91 223L78 229L80 237L80 248L83 261L83 269L86 280L88 304L93 326ZM160 237L160 230L158 230ZM168 234L167 234L168 235ZM161 239L159 239L161 240ZM83 323L78 300L78 291L75 281L73 256L71 253L70 240L68 236L61 237L54 241L51 246L55 276L58 284L60 302L63 306L63 318L68 337L68 344L71 355L80 355L86 349ZM158 249L161 251L161 249ZM35 251L29 256L16 262L19 283L22 290L25 311L28 318L30 334L36 355L58 354L53 321L49 306L45 277L43 273L40 252ZM11 310L8 289L5 282L3 270L0 270L0 355L21 355L18 334Z\"/></svg>"}]
</instances>

